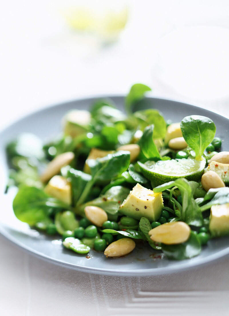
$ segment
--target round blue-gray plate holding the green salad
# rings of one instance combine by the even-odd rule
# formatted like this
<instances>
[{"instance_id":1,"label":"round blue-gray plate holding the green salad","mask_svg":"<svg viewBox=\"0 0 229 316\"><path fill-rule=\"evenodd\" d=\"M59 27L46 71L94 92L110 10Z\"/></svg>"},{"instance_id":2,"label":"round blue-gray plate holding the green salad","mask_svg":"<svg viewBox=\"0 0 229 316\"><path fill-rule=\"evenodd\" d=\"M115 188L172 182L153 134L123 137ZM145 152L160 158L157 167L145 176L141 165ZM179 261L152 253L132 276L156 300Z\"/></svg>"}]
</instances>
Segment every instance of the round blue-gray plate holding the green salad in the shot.
<instances>
[{"instance_id":1,"label":"round blue-gray plate holding the green salad","mask_svg":"<svg viewBox=\"0 0 229 316\"><path fill-rule=\"evenodd\" d=\"M123 109L123 97L114 96L111 99L117 107ZM77 100L48 107L35 112L0 133L0 174L1 190L7 181L8 167L4 152L5 144L21 132L31 132L43 140L56 136L61 131L61 118L66 111L77 108L87 109L94 98ZM141 108L159 109L165 119L179 122L187 115L204 115L211 118L217 127L216 135L224 139L222 150L229 149L229 135L227 133L229 120L219 114L176 101L157 98L147 98L141 103ZM136 108L137 109L137 108ZM136 110L135 109L135 110ZM106 258L103 253L89 252L90 259L85 255L77 255L63 249L60 240L55 240L38 233L27 224L18 221L12 210L12 200L16 191L11 189L7 195L1 193L1 224L0 233L22 249L40 258L71 269L107 275L145 276L165 274L173 271L191 268L207 263L229 253L229 237L210 240L201 254L195 258L172 261L166 258L157 258L152 248L137 247L124 258Z\"/></svg>"}]
</instances>

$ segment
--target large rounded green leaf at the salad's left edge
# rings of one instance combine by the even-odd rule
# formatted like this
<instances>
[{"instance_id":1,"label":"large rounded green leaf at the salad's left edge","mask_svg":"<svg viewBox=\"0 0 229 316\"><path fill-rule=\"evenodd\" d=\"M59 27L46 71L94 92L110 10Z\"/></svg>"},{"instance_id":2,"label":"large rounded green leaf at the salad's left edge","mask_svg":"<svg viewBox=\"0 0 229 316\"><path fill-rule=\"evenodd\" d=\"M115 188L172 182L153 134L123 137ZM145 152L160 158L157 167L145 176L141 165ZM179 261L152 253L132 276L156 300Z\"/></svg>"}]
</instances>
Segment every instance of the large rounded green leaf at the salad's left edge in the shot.
<instances>
[{"instance_id":1,"label":"large rounded green leaf at the salad's left edge","mask_svg":"<svg viewBox=\"0 0 229 316\"><path fill-rule=\"evenodd\" d=\"M48 217L50 208L68 208L61 201L49 197L43 190L36 187L20 187L14 197L13 210L21 221L33 226Z\"/></svg>"}]
</instances>

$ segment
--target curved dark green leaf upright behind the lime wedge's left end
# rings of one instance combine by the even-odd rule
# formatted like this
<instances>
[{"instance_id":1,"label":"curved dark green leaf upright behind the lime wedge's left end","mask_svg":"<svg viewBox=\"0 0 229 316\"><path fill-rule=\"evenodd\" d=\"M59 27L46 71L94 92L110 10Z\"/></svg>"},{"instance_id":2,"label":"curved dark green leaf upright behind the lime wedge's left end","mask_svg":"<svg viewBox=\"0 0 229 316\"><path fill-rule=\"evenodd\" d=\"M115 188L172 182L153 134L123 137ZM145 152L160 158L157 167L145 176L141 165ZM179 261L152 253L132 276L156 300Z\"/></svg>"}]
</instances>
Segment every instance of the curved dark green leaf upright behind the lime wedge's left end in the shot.
<instances>
[{"instance_id":1,"label":"curved dark green leaf upright behind the lime wedge's left end","mask_svg":"<svg viewBox=\"0 0 229 316\"><path fill-rule=\"evenodd\" d=\"M157 157L161 159L157 147L153 142L153 125L149 125L145 128L139 145L146 158Z\"/></svg>"}]
</instances>

